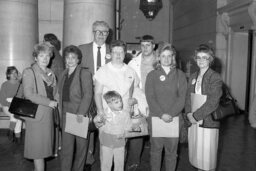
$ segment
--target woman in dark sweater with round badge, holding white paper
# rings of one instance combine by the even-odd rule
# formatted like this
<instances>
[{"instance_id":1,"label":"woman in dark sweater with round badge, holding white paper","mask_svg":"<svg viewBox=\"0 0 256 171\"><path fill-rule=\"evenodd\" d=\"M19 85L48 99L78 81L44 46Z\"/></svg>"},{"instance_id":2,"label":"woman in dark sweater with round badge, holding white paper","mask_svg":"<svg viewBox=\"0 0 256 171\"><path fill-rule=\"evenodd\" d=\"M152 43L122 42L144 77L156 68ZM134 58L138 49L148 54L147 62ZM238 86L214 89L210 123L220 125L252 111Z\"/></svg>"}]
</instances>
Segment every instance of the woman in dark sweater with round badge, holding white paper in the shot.
<instances>
[{"instance_id":1,"label":"woman in dark sweater with round badge, holding white paper","mask_svg":"<svg viewBox=\"0 0 256 171\"><path fill-rule=\"evenodd\" d=\"M176 50L171 44L159 45L159 63L146 79L145 92L149 106L150 164L152 171L161 170L162 150L165 168L175 171L179 142L179 115L185 104L187 81L176 68Z\"/></svg>"}]
</instances>

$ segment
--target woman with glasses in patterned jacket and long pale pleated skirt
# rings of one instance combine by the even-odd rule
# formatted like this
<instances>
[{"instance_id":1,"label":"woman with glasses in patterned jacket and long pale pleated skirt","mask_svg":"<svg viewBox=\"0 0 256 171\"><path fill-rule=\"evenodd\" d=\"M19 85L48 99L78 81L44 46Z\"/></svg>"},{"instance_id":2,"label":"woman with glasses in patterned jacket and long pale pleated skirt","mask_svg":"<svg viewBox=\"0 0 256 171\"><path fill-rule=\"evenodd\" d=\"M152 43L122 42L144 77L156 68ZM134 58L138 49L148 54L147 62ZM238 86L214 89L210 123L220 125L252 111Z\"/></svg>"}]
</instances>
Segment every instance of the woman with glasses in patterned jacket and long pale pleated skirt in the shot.
<instances>
[{"instance_id":1,"label":"woman with glasses in patterned jacket and long pale pleated skirt","mask_svg":"<svg viewBox=\"0 0 256 171\"><path fill-rule=\"evenodd\" d=\"M198 170L214 171L217 161L219 122L212 119L222 95L222 80L210 69L213 50L200 45L195 51L199 71L192 74L186 97L185 112L188 123L189 161Z\"/></svg>"}]
</instances>

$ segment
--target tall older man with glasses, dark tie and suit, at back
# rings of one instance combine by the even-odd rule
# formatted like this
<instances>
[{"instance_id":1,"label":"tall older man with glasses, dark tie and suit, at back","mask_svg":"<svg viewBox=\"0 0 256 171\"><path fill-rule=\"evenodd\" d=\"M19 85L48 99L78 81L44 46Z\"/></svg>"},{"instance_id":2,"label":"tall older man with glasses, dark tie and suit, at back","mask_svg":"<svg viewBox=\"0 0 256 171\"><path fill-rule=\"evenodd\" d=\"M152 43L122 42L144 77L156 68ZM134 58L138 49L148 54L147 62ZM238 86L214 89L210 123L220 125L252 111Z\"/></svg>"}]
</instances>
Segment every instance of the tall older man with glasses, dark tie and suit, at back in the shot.
<instances>
[{"instance_id":1,"label":"tall older man with glasses, dark tie and suit, at back","mask_svg":"<svg viewBox=\"0 0 256 171\"><path fill-rule=\"evenodd\" d=\"M79 46L82 51L83 67L89 68L89 71L94 73L103 65L111 61L110 48L106 44L107 37L109 35L109 25L105 21L95 21L92 25L93 41L88 44L82 44ZM87 153L86 170L94 163L94 133L90 133L90 143Z\"/></svg>"}]
</instances>

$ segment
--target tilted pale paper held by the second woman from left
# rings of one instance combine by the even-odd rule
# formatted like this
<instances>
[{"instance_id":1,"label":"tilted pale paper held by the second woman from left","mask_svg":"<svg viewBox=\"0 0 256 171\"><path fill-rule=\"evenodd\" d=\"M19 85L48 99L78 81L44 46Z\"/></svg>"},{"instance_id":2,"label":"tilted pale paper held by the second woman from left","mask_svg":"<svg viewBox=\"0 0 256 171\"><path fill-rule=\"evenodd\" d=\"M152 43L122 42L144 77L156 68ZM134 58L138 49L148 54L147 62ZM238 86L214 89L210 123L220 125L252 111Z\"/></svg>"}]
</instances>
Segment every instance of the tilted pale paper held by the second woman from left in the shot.
<instances>
[{"instance_id":1,"label":"tilted pale paper held by the second woman from left","mask_svg":"<svg viewBox=\"0 0 256 171\"><path fill-rule=\"evenodd\" d=\"M82 138L87 138L89 118L83 117L83 121L78 123L76 117L76 114L67 112L65 132Z\"/></svg>"}]
</instances>

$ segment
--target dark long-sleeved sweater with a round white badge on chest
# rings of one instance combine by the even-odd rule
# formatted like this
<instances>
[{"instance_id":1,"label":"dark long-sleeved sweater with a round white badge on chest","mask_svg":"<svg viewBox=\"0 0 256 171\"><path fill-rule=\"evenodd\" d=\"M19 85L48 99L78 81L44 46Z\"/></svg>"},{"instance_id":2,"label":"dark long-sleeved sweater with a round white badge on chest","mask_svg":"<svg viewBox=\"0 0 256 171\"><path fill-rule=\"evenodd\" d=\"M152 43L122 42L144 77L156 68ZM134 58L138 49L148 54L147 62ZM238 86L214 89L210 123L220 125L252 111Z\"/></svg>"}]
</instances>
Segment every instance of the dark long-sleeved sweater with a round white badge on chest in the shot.
<instances>
[{"instance_id":1,"label":"dark long-sleeved sweater with a round white badge on chest","mask_svg":"<svg viewBox=\"0 0 256 171\"><path fill-rule=\"evenodd\" d=\"M145 93L149 105L149 116L178 116L185 105L187 80L179 69L168 74L162 67L151 71L146 79Z\"/></svg>"}]
</instances>

